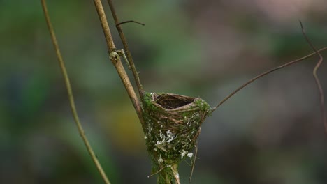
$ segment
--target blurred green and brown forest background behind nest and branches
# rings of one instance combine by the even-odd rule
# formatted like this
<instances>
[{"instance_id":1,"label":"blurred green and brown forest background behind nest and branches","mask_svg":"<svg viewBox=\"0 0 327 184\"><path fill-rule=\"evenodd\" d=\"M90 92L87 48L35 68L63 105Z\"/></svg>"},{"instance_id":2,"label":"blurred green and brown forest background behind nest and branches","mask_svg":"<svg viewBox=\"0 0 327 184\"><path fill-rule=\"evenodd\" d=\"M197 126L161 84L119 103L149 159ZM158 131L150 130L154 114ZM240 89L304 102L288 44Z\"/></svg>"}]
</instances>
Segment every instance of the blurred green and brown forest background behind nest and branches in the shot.
<instances>
[{"instance_id":1,"label":"blurred green and brown forest background behind nest and branches","mask_svg":"<svg viewBox=\"0 0 327 184\"><path fill-rule=\"evenodd\" d=\"M312 52L298 20L316 47L327 46L325 0L115 5L120 20L146 24L123 26L145 89L200 96L212 106L260 72ZM82 125L110 181L155 183L93 1L48 7ZM109 11L108 18L121 48ZM0 183L102 183L75 128L41 2L0 1L0 24ZM317 60L259 79L219 107L202 126L193 183L327 183ZM319 77L327 95L326 64Z\"/></svg>"}]
</instances>

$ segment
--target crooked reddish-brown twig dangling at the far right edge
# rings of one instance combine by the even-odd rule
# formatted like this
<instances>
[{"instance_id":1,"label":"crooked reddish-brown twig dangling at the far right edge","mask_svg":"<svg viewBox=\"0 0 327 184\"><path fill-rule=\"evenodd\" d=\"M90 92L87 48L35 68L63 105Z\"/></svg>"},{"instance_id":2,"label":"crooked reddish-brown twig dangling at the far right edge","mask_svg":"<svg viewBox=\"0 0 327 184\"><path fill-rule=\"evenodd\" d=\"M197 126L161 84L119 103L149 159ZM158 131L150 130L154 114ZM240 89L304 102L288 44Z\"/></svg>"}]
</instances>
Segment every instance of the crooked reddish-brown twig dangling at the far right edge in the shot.
<instances>
[{"instance_id":1,"label":"crooked reddish-brown twig dangling at the far right edge","mask_svg":"<svg viewBox=\"0 0 327 184\"><path fill-rule=\"evenodd\" d=\"M312 45L311 41L309 40L309 38L305 34L305 29L303 27L302 22L301 21L299 21L299 22L300 22L300 26L301 26L301 29L302 29L303 36L305 37L305 40L307 41L307 43L309 43L310 47L314 50L314 52L319 56L319 61L316 64L316 66L314 66L314 70L313 70L312 74L314 76L314 80L315 80L315 82L317 84L317 87L318 87L318 90L319 90L321 118L322 118L322 121L324 123L325 131L327 133L327 117L326 117L326 111L325 111L324 91L322 89L321 83L320 83L319 78L317 76L317 70L321 66L321 63L324 61L324 59L321 56L321 54L317 51L317 49L314 47L314 45Z\"/></svg>"}]
</instances>

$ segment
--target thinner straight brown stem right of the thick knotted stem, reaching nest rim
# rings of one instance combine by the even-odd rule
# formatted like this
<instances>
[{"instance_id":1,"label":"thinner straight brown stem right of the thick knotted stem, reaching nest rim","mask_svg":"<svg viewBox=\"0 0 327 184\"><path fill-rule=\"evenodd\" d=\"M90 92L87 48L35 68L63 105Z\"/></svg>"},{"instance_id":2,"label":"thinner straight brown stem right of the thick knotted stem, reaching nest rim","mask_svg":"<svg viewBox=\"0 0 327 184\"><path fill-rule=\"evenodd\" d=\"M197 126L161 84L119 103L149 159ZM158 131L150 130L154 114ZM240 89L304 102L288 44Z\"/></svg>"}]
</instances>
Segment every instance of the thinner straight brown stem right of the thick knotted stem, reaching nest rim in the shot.
<instances>
[{"instance_id":1,"label":"thinner straight brown stem right of the thick knotted stem, reaching nest rim","mask_svg":"<svg viewBox=\"0 0 327 184\"><path fill-rule=\"evenodd\" d=\"M144 95L143 86L140 83L140 77L138 76L138 71L136 70L136 66L134 65L133 57L131 56L131 51L129 50L129 45L127 44L127 40L124 36L122 28L120 27L120 24L122 24L122 23L119 23L119 20L118 20L117 14L116 14L116 10L115 10L115 7L113 6L112 0L108 0L108 3L110 6L112 17L115 20L115 24L116 24L120 39L122 40L122 43L124 45L124 49L126 51L127 58L129 59L129 65L131 66L131 70L133 72L133 77L135 79L136 86L138 87L138 93L140 95L140 98L143 99L143 95Z\"/></svg>"}]
</instances>

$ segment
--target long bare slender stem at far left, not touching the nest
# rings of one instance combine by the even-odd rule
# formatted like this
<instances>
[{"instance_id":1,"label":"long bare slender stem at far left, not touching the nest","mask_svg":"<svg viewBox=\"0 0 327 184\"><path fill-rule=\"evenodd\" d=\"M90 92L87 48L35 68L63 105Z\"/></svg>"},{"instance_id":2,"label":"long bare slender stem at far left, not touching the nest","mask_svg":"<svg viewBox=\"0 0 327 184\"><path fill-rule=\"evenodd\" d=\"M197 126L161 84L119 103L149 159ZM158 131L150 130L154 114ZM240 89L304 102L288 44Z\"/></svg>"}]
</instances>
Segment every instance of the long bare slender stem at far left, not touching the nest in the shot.
<instances>
[{"instance_id":1,"label":"long bare slender stem at far left, not touching the nest","mask_svg":"<svg viewBox=\"0 0 327 184\"><path fill-rule=\"evenodd\" d=\"M105 183L110 184L110 181L108 180L108 177L106 176L106 173L103 171L101 164L99 162L99 160L96 158L96 154L94 153L92 146L89 144L89 141L85 135L85 132L82 128L82 124L80 123L80 119L78 118L78 112L76 110L75 107L75 102L74 102L74 97L73 97L73 91L71 89L71 82L69 82L69 78L68 78L68 73L66 70L66 66L64 63L64 60L62 59L60 50L59 50L59 45L57 43L57 38L54 34L54 29L52 27L52 24L50 22L50 17L49 17L49 13L48 13L48 8L46 6L45 0L41 0L42 3L42 8L43 8L43 12L44 12L44 16L45 16L45 20L48 24L48 29L50 31L50 35L51 35L51 39L52 39L52 43L54 46L54 49L56 51L57 54L57 58L59 61L59 66L61 68L61 72L62 75L64 75L64 80L65 80L65 84L66 84L66 89L67 89L67 93L68 93L68 98L69 98L69 102L71 104L71 111L73 112L73 117L75 120L75 123L78 127L78 132L80 133L80 137L82 137L82 140L87 148L87 151L89 152L89 155L91 156L94 164L96 165L96 168L98 169L99 173L101 174L101 177L103 178L103 181L105 181Z\"/></svg>"}]
</instances>

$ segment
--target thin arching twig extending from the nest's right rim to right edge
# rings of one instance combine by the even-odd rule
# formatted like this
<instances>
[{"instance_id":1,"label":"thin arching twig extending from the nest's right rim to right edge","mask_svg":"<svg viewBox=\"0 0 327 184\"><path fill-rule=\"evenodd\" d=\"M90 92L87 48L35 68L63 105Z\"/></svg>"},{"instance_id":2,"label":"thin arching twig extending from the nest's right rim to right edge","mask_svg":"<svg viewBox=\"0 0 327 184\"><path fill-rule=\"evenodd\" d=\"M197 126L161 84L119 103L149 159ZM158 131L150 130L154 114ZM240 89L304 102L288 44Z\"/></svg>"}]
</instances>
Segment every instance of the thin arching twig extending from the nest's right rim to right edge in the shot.
<instances>
[{"instance_id":1,"label":"thin arching twig extending from the nest's right rim to right edge","mask_svg":"<svg viewBox=\"0 0 327 184\"><path fill-rule=\"evenodd\" d=\"M324 47L322 49L319 49L318 52L324 51L326 50L327 47ZM243 89L245 86L251 84L252 82L254 82L256 79L259 79L265 75L268 75L271 72L274 72L275 70L279 70L282 69L286 66L291 66L294 63L298 63L299 61L303 61L304 59L310 58L311 56L313 56L314 54L316 54L316 52L312 52L311 54L308 54L307 56L303 56L300 59L296 59L294 61L290 61L289 63L285 63L281 66L277 66L276 68L270 69L266 72L261 73L260 75L250 79L248 82L245 82L245 84L242 84L242 86L238 87L238 89L235 89L235 91L233 91L231 94L227 95L226 98L224 98L224 100L221 100L221 102L219 102L219 104L217 106L215 106L214 108L212 108L212 112L214 112L220 105L224 104L224 102L226 102L229 98L231 98L233 95L235 95L235 93L238 93L238 91L240 91L241 89Z\"/></svg>"}]
</instances>

